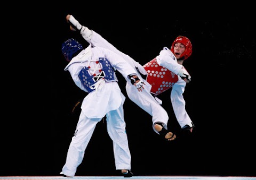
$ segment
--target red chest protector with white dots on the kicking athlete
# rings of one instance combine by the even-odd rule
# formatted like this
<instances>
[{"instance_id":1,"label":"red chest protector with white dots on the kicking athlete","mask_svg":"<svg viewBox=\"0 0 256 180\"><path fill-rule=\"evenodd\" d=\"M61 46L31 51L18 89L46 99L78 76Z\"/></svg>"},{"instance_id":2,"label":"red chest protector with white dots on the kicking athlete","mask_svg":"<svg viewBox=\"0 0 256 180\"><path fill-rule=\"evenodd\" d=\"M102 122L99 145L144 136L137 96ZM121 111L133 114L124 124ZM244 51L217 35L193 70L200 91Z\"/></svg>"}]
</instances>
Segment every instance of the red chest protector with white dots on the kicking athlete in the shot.
<instances>
[{"instance_id":1,"label":"red chest protector with white dots on the kicking athlete","mask_svg":"<svg viewBox=\"0 0 256 180\"><path fill-rule=\"evenodd\" d=\"M148 73L146 80L152 85L150 92L154 93L155 96L170 89L178 81L178 76L167 68L160 66L156 62L156 58L143 65L143 67Z\"/></svg>"}]
</instances>

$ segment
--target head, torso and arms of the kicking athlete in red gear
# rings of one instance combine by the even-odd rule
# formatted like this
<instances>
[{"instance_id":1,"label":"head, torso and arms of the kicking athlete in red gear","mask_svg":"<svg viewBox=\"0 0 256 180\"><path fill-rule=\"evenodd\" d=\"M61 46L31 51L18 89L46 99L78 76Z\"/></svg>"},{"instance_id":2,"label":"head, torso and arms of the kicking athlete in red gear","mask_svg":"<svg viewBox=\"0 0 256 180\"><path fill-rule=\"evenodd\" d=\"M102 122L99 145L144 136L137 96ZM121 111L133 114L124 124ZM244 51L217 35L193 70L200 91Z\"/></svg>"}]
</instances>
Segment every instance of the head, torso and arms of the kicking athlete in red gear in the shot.
<instances>
[{"instance_id":1,"label":"head, torso and arms of the kicking athlete in red gear","mask_svg":"<svg viewBox=\"0 0 256 180\"><path fill-rule=\"evenodd\" d=\"M180 54L179 46L185 48L182 54ZM174 53L180 58L177 59ZM185 36L178 36L173 41L171 49L164 47L156 58L143 65L147 71L146 80L152 85L150 92L153 93L153 96L172 88L170 98L174 114L181 128L190 132L192 132L194 124L186 111L183 92L186 84L191 81L191 76L182 63L191 54L190 40Z\"/></svg>"}]
</instances>

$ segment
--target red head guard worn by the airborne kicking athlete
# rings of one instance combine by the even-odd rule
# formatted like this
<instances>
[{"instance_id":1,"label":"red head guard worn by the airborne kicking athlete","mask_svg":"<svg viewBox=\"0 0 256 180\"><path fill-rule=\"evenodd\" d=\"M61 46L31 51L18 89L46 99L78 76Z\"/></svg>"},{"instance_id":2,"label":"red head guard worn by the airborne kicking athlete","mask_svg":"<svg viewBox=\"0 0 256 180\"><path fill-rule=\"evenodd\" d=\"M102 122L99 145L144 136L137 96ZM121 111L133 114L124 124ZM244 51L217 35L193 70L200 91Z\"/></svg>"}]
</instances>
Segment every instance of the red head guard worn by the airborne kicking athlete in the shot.
<instances>
[{"instance_id":1,"label":"red head guard worn by the airborne kicking athlete","mask_svg":"<svg viewBox=\"0 0 256 180\"><path fill-rule=\"evenodd\" d=\"M173 48L174 45L180 42L182 45L185 46L185 52L181 54L180 59L187 59L189 56L191 56L192 54L192 44L190 42L190 40L185 37L185 36L178 36L173 42L172 42L172 46L171 46L171 52L174 54Z\"/></svg>"}]
</instances>

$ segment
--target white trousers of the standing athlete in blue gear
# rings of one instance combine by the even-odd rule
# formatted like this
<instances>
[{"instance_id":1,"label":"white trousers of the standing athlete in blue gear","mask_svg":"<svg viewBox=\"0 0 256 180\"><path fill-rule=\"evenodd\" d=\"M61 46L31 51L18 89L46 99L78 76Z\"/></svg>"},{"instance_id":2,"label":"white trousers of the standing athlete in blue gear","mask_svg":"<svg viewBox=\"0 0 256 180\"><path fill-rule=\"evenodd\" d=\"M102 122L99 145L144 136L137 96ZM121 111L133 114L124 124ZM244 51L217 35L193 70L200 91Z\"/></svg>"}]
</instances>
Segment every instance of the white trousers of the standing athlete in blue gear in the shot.
<instances>
[{"instance_id":1,"label":"white trousers of the standing athlete in blue gear","mask_svg":"<svg viewBox=\"0 0 256 180\"><path fill-rule=\"evenodd\" d=\"M123 105L106 114L107 132L113 140L116 169L131 169L131 154L129 150ZM102 118L87 118L83 111L79 116L75 135L69 145L66 164L62 168L63 174L75 176L77 167L84 158L85 149L92 137L93 131ZM95 155L97 156L97 155Z\"/></svg>"}]
</instances>

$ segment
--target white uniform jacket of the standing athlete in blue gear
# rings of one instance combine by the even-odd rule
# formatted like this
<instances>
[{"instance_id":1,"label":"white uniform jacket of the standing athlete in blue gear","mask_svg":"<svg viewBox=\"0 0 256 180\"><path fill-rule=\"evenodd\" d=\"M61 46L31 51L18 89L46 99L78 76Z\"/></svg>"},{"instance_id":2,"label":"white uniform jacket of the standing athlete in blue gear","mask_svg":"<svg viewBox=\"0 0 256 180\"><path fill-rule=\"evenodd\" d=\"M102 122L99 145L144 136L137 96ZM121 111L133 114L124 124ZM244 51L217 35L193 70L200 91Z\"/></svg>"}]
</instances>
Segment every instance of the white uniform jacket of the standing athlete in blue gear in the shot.
<instances>
[{"instance_id":1,"label":"white uniform jacket of the standing athlete in blue gear","mask_svg":"<svg viewBox=\"0 0 256 180\"><path fill-rule=\"evenodd\" d=\"M79 72L85 66L95 67L97 63L94 61L99 60L100 57L107 58L111 65L120 72L126 80L130 79L130 74L136 74L137 72L119 55L111 50L101 47L91 47L89 45L86 49L82 50L77 56L75 56L69 64L65 67L65 71L69 71L75 84L85 92L88 92L78 75ZM135 86L133 86L135 90ZM117 80L107 82L100 80L97 88L90 92L83 100L82 111L89 118L104 117L110 110L115 110L121 104L123 104L125 96L121 92L118 86Z\"/></svg>"}]
</instances>

